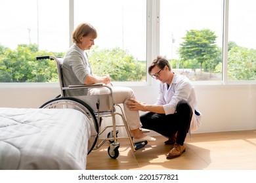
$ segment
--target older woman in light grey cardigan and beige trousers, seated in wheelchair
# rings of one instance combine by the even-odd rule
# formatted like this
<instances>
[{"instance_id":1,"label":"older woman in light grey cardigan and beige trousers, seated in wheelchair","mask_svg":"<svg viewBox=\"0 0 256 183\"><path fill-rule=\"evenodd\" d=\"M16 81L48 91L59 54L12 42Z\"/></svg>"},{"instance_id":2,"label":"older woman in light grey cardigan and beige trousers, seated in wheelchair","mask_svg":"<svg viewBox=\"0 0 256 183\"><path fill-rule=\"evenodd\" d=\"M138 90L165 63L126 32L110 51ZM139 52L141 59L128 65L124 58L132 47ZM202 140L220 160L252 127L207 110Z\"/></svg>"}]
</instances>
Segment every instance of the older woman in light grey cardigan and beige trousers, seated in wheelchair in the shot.
<instances>
[{"instance_id":1,"label":"older woman in light grey cardigan and beige trousers, seated in wheelchair","mask_svg":"<svg viewBox=\"0 0 256 183\"><path fill-rule=\"evenodd\" d=\"M63 60L62 73L64 85L74 84L95 84L102 82L104 84L110 84L110 76L96 76L93 75L92 69L89 63L89 59L85 50L90 50L95 44L97 32L95 27L91 24L83 23L79 24L73 32L74 44L66 52ZM130 102L128 99L135 99L135 93L131 88L127 87L112 87L113 101L115 104L125 104ZM81 95L96 95L105 94L106 90L103 88L94 88L93 90L67 90L68 96L81 96ZM139 112L135 110L129 110L127 105L123 105L125 118L127 124L133 135L134 142L141 141L156 141L153 137L147 136L140 130L142 124L140 123Z\"/></svg>"}]
</instances>

